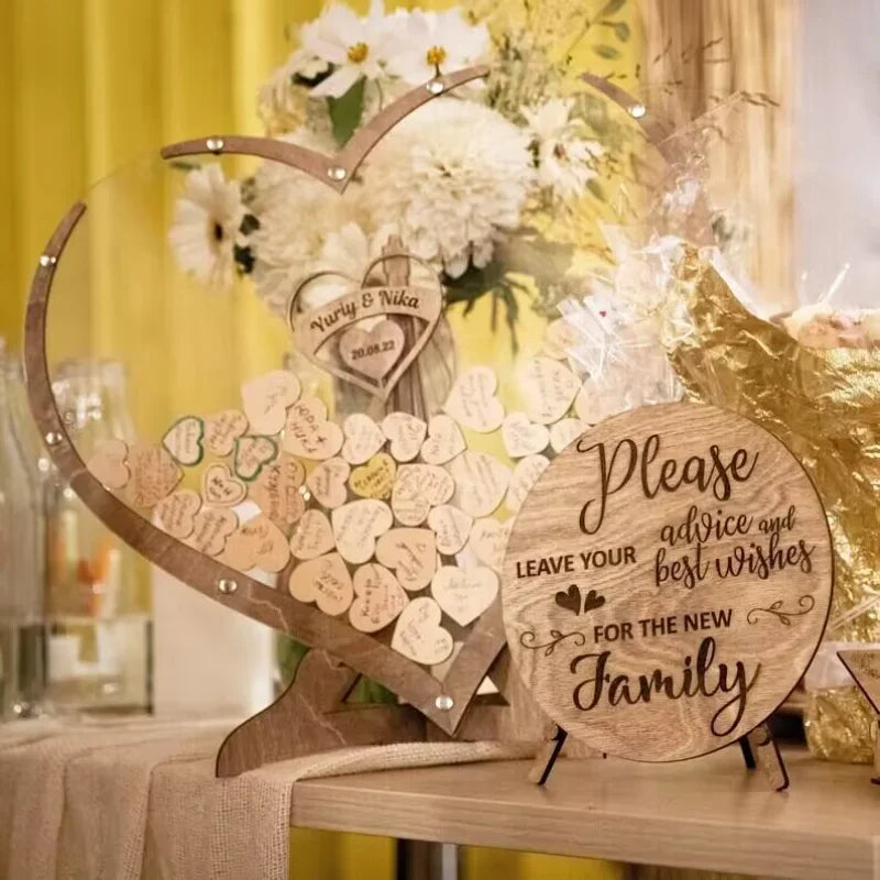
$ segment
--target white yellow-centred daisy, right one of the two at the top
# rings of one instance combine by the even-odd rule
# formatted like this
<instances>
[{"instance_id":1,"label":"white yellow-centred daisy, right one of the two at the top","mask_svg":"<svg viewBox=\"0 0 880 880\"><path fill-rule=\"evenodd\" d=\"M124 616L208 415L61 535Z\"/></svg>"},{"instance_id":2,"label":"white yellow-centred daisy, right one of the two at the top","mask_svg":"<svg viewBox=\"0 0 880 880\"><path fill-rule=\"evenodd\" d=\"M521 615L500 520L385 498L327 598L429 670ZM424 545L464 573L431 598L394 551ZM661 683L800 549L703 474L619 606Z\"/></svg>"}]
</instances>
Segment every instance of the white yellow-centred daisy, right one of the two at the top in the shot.
<instances>
[{"instance_id":1,"label":"white yellow-centred daisy, right one of the two at the top","mask_svg":"<svg viewBox=\"0 0 880 880\"><path fill-rule=\"evenodd\" d=\"M388 70L407 82L425 82L481 61L488 51L485 24L469 24L459 9L415 10L406 21L405 48L388 62Z\"/></svg>"}]
</instances>

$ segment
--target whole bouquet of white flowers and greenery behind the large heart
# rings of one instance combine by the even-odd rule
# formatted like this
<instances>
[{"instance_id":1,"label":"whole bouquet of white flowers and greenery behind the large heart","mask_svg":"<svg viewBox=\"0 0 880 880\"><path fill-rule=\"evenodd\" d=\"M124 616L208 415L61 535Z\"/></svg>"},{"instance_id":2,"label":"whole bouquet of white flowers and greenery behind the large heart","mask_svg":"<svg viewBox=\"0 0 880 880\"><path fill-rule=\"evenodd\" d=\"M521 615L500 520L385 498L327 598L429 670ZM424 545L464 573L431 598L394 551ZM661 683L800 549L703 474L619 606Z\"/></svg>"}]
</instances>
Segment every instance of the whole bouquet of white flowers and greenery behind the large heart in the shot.
<instances>
[{"instance_id":1,"label":"whole bouquet of white flowers and greenery behind the large heart","mask_svg":"<svg viewBox=\"0 0 880 880\"><path fill-rule=\"evenodd\" d=\"M436 77L485 63L487 80L394 127L344 199L273 162L244 179L190 168L170 231L180 266L216 288L245 275L283 316L304 278L361 277L395 238L440 275L447 307L491 297L516 344L524 298L551 315L586 286L591 260L608 257L595 224L602 180L620 173L631 132L576 79L573 58L579 46L600 63L622 57L630 28L625 0L590 15L571 3L556 16L506 6L503 15L484 3L386 12L374 0L364 16L333 4L305 23L258 95L266 133L293 144L332 154ZM309 305L333 294L321 286Z\"/></svg>"}]
</instances>

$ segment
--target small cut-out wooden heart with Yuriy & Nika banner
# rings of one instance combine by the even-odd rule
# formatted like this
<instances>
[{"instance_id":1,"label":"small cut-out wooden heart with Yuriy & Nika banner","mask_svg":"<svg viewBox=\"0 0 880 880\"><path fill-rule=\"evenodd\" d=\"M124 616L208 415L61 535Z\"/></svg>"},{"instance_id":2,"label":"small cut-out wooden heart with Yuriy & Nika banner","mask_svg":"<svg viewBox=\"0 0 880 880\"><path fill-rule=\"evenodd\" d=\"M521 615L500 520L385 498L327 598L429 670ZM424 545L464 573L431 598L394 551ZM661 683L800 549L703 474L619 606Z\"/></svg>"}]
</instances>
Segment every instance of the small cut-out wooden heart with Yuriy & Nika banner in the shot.
<instances>
[{"instance_id":1,"label":"small cut-out wooden heart with Yuriy & Nika banner","mask_svg":"<svg viewBox=\"0 0 880 880\"><path fill-rule=\"evenodd\" d=\"M296 340L299 343L299 350L302 352L302 354L305 354L306 358L308 358L309 361L311 361L311 363L314 363L320 370L331 373L337 378L341 378L343 382L349 382L353 385L356 385L359 388L362 388L365 392L370 392L370 394L375 395L382 402L388 399L392 392L397 386L397 383L404 377L406 371L413 366L422 349L428 344L431 339L431 333L433 333L433 329L437 327L437 322L440 320L440 316L443 311L443 287L440 284L439 278L436 279L436 290L414 284L409 284L405 288L400 288L408 290L410 295L416 298L417 306L415 307L402 305L388 305L381 307L381 294L391 288L392 285L381 286L367 284L369 278L377 265L389 260L398 258L407 260L425 266L436 278L436 273L433 270L431 270L430 266L425 263L425 261L419 260L411 254L404 252L383 253L382 256L377 256L366 267L364 276L360 282L358 282L355 278L344 275L341 272L324 271L316 272L309 275L299 283L287 304L287 323L293 330ZM338 297L324 306L309 309L308 311L301 310L300 305L302 293L312 282L328 277L341 278L348 282L353 287L352 292L343 294L341 297ZM395 287L394 289L398 288ZM373 298L372 307L361 307L364 296L370 296ZM341 304L351 305L354 317L342 318L338 326L334 326L328 331L314 328L314 323L317 321L320 312L336 309ZM403 358L397 360L389 371L389 375L385 375L375 382L370 382L354 370L350 370L343 364L334 363L330 359L322 359L319 356L319 352L330 344L331 340L337 337L337 334L342 333L352 327L356 327L359 322L365 318L374 318L381 315L402 315L411 319L419 319L425 322L424 329L409 346L409 351L405 352Z\"/></svg>"}]
</instances>

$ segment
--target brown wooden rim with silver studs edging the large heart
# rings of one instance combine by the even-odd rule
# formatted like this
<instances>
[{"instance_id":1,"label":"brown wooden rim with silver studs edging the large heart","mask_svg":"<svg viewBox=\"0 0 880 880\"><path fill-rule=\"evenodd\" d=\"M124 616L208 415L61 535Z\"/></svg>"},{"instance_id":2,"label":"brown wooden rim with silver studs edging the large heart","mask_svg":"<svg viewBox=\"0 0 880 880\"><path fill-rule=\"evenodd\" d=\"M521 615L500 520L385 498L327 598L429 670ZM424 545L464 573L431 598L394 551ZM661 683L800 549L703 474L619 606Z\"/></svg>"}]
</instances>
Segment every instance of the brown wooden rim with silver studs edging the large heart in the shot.
<instances>
[{"instance_id":1,"label":"brown wooden rim with silver studs edging the large heart","mask_svg":"<svg viewBox=\"0 0 880 880\"><path fill-rule=\"evenodd\" d=\"M297 168L342 194L370 151L395 124L427 101L487 73L486 67L473 67L438 76L407 92L333 156L271 138L242 135L183 141L163 147L161 155L165 160L206 153L258 156ZM56 266L86 210L84 201L76 202L48 240L33 277L25 317L24 360L31 410L61 477L110 530L154 564L240 614L324 649L352 670L385 684L444 734L454 735L476 689L505 646L498 598L471 628L441 683L421 666L348 623L204 556L156 528L88 471L58 413L46 362L46 319Z\"/></svg>"}]
</instances>

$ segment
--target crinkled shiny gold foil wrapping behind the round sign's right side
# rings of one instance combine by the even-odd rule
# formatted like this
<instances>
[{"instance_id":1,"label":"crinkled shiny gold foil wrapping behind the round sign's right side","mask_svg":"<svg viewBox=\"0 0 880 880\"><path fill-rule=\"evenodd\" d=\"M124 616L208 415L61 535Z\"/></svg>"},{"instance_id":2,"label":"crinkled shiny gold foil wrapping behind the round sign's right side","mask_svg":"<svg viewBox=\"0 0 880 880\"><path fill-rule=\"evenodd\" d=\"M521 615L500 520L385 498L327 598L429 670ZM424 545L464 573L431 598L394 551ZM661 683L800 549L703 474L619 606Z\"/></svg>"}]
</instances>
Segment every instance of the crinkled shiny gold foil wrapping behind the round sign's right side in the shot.
<instances>
[{"instance_id":1,"label":"crinkled shiny gold foil wrapping behind the round sign's right side","mask_svg":"<svg viewBox=\"0 0 880 880\"><path fill-rule=\"evenodd\" d=\"M811 349L752 315L691 251L680 266L693 332L671 348L689 396L755 419L801 460L835 550L826 638L880 641L880 353ZM865 761L870 713L853 686L810 695L806 730L823 758Z\"/></svg>"}]
</instances>

